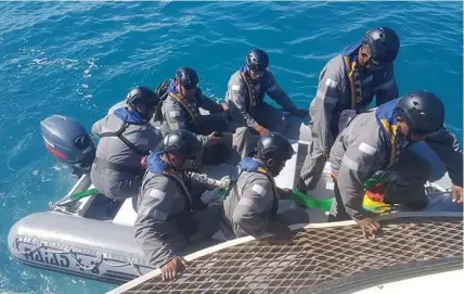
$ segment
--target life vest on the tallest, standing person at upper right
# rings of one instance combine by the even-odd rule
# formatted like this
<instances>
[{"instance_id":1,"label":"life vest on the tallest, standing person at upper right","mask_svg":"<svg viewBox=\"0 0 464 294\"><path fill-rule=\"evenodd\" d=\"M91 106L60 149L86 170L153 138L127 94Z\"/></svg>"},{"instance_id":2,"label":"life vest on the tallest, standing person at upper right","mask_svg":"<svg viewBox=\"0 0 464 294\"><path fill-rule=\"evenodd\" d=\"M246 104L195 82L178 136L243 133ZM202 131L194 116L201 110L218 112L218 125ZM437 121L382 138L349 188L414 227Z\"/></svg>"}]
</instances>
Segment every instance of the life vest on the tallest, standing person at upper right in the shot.
<instances>
[{"instance_id":1,"label":"life vest on the tallest, standing person at upper right","mask_svg":"<svg viewBox=\"0 0 464 294\"><path fill-rule=\"evenodd\" d=\"M344 60L344 72L346 78L349 81L349 89L351 91L350 101L343 101L341 104L346 108L351 108L359 111L359 106L366 106L372 101L374 95L370 98L364 98L363 95L363 85L362 85L362 74L363 71L358 62L358 54L361 48L361 41L355 42L348 46L341 53ZM372 75L372 88L377 87L382 84L384 79L385 72L384 71L374 71L371 73Z\"/></svg>"}]
</instances>

